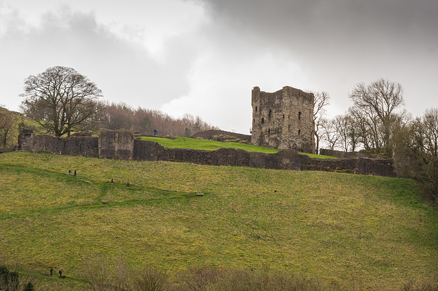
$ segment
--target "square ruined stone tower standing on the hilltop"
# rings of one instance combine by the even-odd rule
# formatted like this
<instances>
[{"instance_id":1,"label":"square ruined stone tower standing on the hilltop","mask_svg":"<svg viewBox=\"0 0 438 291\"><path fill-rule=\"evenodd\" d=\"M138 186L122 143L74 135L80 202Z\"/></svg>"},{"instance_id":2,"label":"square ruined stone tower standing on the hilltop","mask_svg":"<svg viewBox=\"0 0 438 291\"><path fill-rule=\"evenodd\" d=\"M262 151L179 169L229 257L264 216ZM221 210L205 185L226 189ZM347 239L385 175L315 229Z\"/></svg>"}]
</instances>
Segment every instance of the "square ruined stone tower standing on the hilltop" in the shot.
<instances>
[{"instance_id":1,"label":"square ruined stone tower standing on the hilltop","mask_svg":"<svg viewBox=\"0 0 438 291\"><path fill-rule=\"evenodd\" d=\"M254 87L252 93L252 144L315 152L313 94L289 86L274 93Z\"/></svg>"}]
</instances>

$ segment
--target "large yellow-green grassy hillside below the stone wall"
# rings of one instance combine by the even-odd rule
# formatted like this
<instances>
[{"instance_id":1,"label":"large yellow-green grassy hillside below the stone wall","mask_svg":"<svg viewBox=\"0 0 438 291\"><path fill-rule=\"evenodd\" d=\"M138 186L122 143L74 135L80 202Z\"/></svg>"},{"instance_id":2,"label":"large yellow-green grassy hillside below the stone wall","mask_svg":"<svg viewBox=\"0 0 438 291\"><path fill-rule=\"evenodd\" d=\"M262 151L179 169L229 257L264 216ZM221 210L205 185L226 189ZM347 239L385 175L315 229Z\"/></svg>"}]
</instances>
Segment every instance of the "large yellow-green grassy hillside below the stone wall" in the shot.
<instances>
[{"instance_id":1,"label":"large yellow-green grassy hillside below the stone wall","mask_svg":"<svg viewBox=\"0 0 438 291\"><path fill-rule=\"evenodd\" d=\"M170 277L268 267L375 290L438 274L437 213L401 178L10 152L0 202L0 258L42 290L89 288L96 256Z\"/></svg>"}]
</instances>

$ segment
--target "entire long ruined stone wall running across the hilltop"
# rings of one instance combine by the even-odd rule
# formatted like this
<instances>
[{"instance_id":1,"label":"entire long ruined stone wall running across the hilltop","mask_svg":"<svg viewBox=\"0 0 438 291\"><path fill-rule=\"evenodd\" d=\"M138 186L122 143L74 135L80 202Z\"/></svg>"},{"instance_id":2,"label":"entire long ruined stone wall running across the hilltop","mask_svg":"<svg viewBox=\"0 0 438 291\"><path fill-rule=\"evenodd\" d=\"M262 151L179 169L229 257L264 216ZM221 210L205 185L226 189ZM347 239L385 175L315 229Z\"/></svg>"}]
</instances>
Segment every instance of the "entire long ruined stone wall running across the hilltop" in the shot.
<instances>
[{"instance_id":1,"label":"entire long ruined stone wall running across the hilltop","mask_svg":"<svg viewBox=\"0 0 438 291\"><path fill-rule=\"evenodd\" d=\"M275 154L246 152L233 148L192 150L164 148L155 141L133 139L133 132L104 130L98 137L51 137L22 131L18 139L23 150L53 154L121 158L135 161L172 161L199 165L226 165L296 171L338 171L395 177L392 160L372 158L322 159L298 154L296 150L280 150ZM131 147L131 148L129 148Z\"/></svg>"}]
</instances>

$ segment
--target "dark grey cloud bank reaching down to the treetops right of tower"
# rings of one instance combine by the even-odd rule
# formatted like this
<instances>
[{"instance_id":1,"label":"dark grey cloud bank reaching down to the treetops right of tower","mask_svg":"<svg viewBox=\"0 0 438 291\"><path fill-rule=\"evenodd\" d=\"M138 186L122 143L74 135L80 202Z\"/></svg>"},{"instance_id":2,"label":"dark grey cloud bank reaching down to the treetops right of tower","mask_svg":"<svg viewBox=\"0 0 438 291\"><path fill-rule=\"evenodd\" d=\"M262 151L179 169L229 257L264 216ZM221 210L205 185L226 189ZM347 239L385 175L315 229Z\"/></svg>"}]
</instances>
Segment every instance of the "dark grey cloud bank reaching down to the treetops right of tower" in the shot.
<instances>
[{"instance_id":1,"label":"dark grey cloud bank reaching down to the treetops right of tower","mask_svg":"<svg viewBox=\"0 0 438 291\"><path fill-rule=\"evenodd\" d=\"M348 91L362 81L383 77L402 83L408 110L416 115L426 102L414 99L438 89L436 0L198 2L230 31L253 39L253 49L289 53L315 87L342 105L341 112L348 107Z\"/></svg>"}]
</instances>

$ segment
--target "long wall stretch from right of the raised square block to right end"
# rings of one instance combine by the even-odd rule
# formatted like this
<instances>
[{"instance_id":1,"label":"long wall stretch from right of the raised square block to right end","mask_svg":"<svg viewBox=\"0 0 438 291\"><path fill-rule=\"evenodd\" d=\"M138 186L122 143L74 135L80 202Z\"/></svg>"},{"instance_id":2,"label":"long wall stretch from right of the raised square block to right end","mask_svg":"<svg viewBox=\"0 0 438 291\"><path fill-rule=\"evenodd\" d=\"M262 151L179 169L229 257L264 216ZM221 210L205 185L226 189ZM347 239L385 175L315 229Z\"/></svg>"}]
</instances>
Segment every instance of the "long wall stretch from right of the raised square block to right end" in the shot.
<instances>
[{"instance_id":1,"label":"long wall stretch from right of the raised square block to right end","mask_svg":"<svg viewBox=\"0 0 438 291\"><path fill-rule=\"evenodd\" d=\"M372 158L325 159L310 158L296 150L280 150L275 154L246 152L233 148L219 150L192 150L164 148L155 141L134 141L136 161L171 161L198 165L226 165L263 169L289 169L296 171L337 171L350 174L395 177L392 160Z\"/></svg>"}]
</instances>

